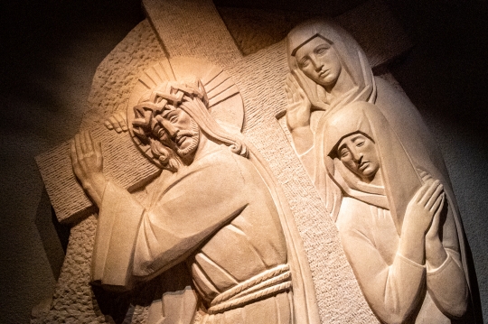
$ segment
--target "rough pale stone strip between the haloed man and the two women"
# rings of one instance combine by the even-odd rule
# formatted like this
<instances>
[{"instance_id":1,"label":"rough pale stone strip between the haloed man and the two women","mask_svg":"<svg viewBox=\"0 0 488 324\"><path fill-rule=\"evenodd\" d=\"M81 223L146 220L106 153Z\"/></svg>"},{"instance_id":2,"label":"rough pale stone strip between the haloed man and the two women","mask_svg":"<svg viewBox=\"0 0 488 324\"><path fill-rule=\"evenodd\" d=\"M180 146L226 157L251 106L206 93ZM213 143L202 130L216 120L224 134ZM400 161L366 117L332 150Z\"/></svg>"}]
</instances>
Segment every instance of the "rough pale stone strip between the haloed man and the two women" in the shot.
<instances>
[{"instance_id":1,"label":"rough pale stone strip between the haloed man and the two women","mask_svg":"<svg viewBox=\"0 0 488 324\"><path fill-rule=\"evenodd\" d=\"M286 106L286 64L285 43L278 42L229 69L236 76L246 106L243 133L269 163L294 212L314 276L322 321L375 322L343 255L337 229L276 119L279 109Z\"/></svg>"}]
</instances>

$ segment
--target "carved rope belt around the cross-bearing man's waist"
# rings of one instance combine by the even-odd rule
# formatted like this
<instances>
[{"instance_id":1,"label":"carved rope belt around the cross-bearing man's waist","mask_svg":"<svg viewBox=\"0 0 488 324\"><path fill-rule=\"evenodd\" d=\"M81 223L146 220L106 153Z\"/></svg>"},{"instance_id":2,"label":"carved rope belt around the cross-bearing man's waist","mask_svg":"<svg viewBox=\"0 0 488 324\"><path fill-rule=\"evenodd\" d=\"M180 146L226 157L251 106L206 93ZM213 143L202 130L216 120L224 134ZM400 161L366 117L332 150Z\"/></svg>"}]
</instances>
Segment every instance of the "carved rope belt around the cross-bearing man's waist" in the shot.
<instances>
[{"instance_id":1,"label":"carved rope belt around the cross-bearing man's waist","mask_svg":"<svg viewBox=\"0 0 488 324\"><path fill-rule=\"evenodd\" d=\"M222 292L211 301L207 311L209 314L217 314L236 309L279 292L286 292L291 286L290 267L288 264L281 264Z\"/></svg>"}]
</instances>

